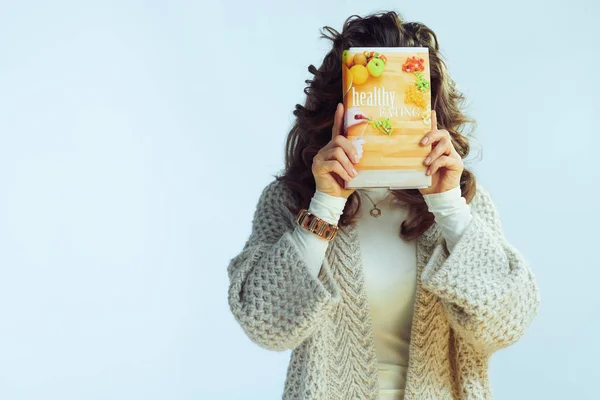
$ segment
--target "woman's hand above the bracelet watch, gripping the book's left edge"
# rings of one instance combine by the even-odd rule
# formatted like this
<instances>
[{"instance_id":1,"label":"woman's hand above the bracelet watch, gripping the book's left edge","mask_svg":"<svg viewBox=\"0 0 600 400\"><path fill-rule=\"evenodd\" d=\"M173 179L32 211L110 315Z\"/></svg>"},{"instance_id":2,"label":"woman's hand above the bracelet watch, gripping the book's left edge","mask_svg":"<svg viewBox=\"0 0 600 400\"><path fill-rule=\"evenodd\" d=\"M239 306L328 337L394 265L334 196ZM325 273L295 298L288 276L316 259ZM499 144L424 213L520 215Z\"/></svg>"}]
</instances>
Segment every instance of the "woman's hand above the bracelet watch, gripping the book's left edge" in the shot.
<instances>
[{"instance_id":1,"label":"woman's hand above the bracelet watch, gripping the book's left edge","mask_svg":"<svg viewBox=\"0 0 600 400\"><path fill-rule=\"evenodd\" d=\"M358 162L356 147L342 135L344 105L339 103L333 119L331 141L313 158L312 173L316 188L331 196L348 198L355 189L344 189L344 181L358 175L354 164Z\"/></svg>"}]
</instances>

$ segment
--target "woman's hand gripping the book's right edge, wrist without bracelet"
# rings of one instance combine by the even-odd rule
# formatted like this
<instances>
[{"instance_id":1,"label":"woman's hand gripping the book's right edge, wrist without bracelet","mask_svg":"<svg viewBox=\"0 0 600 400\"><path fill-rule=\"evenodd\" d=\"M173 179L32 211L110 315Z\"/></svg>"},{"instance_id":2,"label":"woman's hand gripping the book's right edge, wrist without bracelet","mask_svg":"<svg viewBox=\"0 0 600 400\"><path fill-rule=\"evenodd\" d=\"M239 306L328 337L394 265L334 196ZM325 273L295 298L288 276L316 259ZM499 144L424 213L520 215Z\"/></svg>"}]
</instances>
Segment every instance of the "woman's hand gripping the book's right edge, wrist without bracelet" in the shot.
<instances>
[{"instance_id":1,"label":"woman's hand gripping the book's right edge, wrist without bracelet","mask_svg":"<svg viewBox=\"0 0 600 400\"><path fill-rule=\"evenodd\" d=\"M423 140L427 141L423 143ZM419 189L421 194L441 193L460 185L460 177L464 166L462 158L452 145L450 132L437 128L435 110L431 111L431 130L423 137L420 144L432 143L431 152L423 164L428 165L427 175L431 175L431 186Z\"/></svg>"}]
</instances>

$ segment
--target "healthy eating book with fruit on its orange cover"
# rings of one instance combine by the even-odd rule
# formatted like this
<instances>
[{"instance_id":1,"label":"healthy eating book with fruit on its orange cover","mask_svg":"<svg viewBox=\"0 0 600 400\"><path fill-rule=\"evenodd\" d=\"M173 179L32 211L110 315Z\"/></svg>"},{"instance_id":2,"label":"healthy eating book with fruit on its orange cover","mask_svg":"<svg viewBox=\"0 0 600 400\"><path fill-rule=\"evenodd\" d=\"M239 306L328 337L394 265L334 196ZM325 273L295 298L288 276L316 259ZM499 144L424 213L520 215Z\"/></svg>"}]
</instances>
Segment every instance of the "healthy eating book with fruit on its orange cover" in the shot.
<instances>
[{"instance_id":1,"label":"healthy eating book with fruit on its orange cover","mask_svg":"<svg viewBox=\"0 0 600 400\"><path fill-rule=\"evenodd\" d=\"M343 134L356 147L358 175L345 188L431 186L423 164L432 146L426 47L350 47L342 54Z\"/></svg>"}]
</instances>

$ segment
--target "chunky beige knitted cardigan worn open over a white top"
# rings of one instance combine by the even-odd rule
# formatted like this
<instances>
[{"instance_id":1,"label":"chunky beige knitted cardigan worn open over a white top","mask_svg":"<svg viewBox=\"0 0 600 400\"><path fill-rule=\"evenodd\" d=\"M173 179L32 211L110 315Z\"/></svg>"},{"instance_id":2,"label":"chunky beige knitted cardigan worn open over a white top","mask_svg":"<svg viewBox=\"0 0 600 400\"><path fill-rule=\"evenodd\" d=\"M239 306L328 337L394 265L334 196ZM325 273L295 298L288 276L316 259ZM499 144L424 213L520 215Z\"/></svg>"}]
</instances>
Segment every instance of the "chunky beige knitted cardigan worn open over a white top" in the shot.
<instances>
[{"instance_id":1,"label":"chunky beige knitted cardigan worn open over a white top","mask_svg":"<svg viewBox=\"0 0 600 400\"><path fill-rule=\"evenodd\" d=\"M357 228L340 228L318 278L290 233L296 204L273 180L252 231L230 260L228 301L245 334L292 350L283 399L378 398L377 360ZM405 400L492 399L491 354L515 343L540 295L524 257L508 243L489 192L477 184L473 218L452 253L437 223L417 240L417 292Z\"/></svg>"}]
</instances>

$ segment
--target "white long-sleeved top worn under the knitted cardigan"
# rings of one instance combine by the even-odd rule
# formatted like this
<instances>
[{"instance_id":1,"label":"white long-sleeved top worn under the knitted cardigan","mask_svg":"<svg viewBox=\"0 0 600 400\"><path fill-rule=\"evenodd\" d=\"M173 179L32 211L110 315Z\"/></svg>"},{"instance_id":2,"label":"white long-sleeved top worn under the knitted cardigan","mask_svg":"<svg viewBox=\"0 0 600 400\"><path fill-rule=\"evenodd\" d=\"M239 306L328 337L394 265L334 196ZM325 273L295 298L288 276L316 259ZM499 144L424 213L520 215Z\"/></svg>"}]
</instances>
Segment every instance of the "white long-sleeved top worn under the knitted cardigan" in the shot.
<instances>
[{"instance_id":1,"label":"white long-sleeved top worn under the knitted cardigan","mask_svg":"<svg viewBox=\"0 0 600 400\"><path fill-rule=\"evenodd\" d=\"M391 201L393 196L386 188L357 189L357 193L362 202L357 233L379 365L379 398L403 399L417 286L416 241L400 238L400 224L406 217L406 209ZM381 209L380 217L374 218L369 214L373 203L365 193ZM460 186L443 193L423 195L423 198L440 225L451 252L472 218L470 206L461 196ZM317 190L309 211L337 224L346 201L343 197ZM317 276L329 241L298 225L292 237L311 273Z\"/></svg>"}]
</instances>

